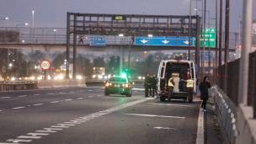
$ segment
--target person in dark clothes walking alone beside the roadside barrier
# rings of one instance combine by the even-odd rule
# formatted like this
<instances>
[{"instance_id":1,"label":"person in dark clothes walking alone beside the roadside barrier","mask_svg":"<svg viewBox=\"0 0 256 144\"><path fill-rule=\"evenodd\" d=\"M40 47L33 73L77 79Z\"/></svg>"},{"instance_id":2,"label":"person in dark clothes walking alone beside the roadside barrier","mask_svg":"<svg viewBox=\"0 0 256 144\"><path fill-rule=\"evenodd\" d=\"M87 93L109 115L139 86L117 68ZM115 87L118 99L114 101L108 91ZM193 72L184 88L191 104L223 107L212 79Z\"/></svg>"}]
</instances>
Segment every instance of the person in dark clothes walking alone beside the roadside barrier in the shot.
<instances>
[{"instance_id":1,"label":"person in dark clothes walking alone beside the roadside barrier","mask_svg":"<svg viewBox=\"0 0 256 144\"><path fill-rule=\"evenodd\" d=\"M208 100L208 88L211 88L211 84L209 82L209 77L204 77L204 81L200 83L199 89L200 89L200 99L203 100L201 104L201 110L206 112L206 102Z\"/></svg>"}]
</instances>

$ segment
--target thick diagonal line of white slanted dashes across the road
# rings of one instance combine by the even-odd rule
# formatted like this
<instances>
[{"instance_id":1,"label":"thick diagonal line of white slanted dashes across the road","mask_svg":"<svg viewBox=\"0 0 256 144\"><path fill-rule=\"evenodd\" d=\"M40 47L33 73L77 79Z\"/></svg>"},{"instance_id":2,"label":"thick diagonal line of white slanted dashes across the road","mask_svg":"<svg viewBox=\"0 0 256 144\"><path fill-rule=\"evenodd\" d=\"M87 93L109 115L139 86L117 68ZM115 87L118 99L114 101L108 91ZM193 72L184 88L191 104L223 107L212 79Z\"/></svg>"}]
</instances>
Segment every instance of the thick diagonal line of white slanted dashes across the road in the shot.
<instances>
[{"instance_id":1,"label":"thick diagonal line of white slanted dashes across the road","mask_svg":"<svg viewBox=\"0 0 256 144\"><path fill-rule=\"evenodd\" d=\"M7 141L12 141L12 142L16 142L16 143L17 142L30 142L33 139L40 139L43 136L48 136L51 133L57 132L57 130L62 130L61 128L69 128L72 125L79 125L79 124L81 124L83 122L86 122L88 120L93 120L94 118L98 118L100 116L112 113L112 112L117 111L119 109L125 109L126 107L129 107L131 105L140 104L140 103L145 102L147 100L149 100L149 99L140 99L140 100L136 100L136 101L131 102L131 103L115 106L115 107L110 108L110 109L106 109L106 110L103 110L103 111L99 111L97 113L93 113L92 115L85 115L83 117L79 117L79 119L64 122L64 124L51 125L50 128L44 128L43 130L39 130L39 131L35 131L35 132L29 132L27 134L27 136L18 136L17 138L19 138L19 139L9 139ZM21 107L19 107L19 108L21 108ZM156 116L156 115L154 115L154 116ZM162 115L160 115L160 116L162 116ZM55 131L52 131L52 130L55 130ZM40 135L37 136L36 134L38 134L38 133L40 133ZM28 139L32 139L32 140L23 140L21 138L24 138L24 139L28 138Z\"/></svg>"}]
</instances>

